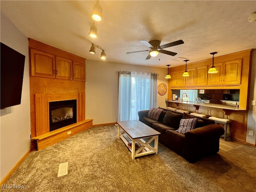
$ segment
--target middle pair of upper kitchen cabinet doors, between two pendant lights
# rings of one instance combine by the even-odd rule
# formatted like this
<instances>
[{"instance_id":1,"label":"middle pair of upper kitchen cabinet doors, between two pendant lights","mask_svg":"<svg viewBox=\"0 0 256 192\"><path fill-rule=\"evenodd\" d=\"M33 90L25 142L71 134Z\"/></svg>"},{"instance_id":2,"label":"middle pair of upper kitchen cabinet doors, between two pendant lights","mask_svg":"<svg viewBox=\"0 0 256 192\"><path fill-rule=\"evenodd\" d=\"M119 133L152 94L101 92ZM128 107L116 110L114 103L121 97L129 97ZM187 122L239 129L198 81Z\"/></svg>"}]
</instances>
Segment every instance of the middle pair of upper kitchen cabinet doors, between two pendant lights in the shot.
<instances>
[{"instance_id":1,"label":"middle pair of upper kitchen cabinet doors, between two pendant lights","mask_svg":"<svg viewBox=\"0 0 256 192\"><path fill-rule=\"evenodd\" d=\"M208 66L189 68L189 76L186 78L186 86L205 86L207 85Z\"/></svg>"}]
</instances>

